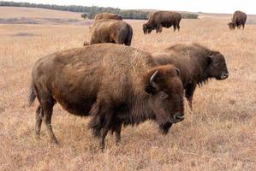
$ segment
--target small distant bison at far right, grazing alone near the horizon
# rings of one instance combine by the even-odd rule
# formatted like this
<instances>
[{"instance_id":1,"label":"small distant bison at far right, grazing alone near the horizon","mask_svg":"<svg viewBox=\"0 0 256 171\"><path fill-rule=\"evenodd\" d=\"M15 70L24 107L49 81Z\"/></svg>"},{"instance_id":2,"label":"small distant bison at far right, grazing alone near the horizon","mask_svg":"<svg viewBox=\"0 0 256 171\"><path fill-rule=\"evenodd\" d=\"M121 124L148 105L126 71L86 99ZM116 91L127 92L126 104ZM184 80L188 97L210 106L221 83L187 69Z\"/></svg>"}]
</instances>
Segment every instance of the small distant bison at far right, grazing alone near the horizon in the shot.
<instances>
[{"instance_id":1,"label":"small distant bison at far right, grazing alone near the horizon","mask_svg":"<svg viewBox=\"0 0 256 171\"><path fill-rule=\"evenodd\" d=\"M242 27L244 29L245 24L247 21L247 15L244 12L241 11L235 11L232 21L229 22L229 28L235 29L235 27L240 28Z\"/></svg>"}]
</instances>

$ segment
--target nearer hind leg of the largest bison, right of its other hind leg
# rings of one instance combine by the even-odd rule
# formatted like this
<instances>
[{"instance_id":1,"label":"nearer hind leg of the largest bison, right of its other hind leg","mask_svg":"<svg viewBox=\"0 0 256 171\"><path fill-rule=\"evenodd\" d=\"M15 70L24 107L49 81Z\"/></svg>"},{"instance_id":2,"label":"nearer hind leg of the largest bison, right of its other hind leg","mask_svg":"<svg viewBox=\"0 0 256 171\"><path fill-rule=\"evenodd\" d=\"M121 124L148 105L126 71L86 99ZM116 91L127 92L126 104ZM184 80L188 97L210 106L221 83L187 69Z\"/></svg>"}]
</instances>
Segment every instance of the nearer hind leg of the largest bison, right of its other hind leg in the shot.
<instances>
[{"instance_id":1,"label":"nearer hind leg of the largest bison, right of its other hind leg","mask_svg":"<svg viewBox=\"0 0 256 171\"><path fill-rule=\"evenodd\" d=\"M47 100L41 100L41 106L43 109L44 113L44 122L45 126L48 132L48 135L51 139L52 143L57 144L57 138L55 137L54 133L52 132L52 127L51 127L51 115L52 115L52 109L54 106L54 100L52 98L48 98Z\"/></svg>"}]
</instances>

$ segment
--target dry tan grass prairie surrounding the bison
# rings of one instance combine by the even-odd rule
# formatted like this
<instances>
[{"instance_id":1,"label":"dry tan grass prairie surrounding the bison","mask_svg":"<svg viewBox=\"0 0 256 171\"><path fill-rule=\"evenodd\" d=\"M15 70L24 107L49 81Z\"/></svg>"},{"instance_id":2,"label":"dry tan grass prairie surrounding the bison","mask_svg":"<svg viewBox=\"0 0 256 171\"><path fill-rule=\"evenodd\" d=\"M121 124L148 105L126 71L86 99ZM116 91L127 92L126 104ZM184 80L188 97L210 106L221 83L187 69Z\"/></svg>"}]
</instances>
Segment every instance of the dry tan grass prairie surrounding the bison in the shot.
<instances>
[{"instance_id":1,"label":"dry tan grass prairie surrounding the bison","mask_svg":"<svg viewBox=\"0 0 256 171\"><path fill-rule=\"evenodd\" d=\"M6 16L0 10L0 18L17 17L19 9L13 10ZM49 11L39 9L34 17L50 18ZM60 13L53 18L75 19ZM229 79L198 88L193 111L186 103L186 119L167 136L147 121L123 128L119 146L108 135L104 153L86 128L89 118L69 115L58 104L52 127L60 144L49 143L45 125L41 139L35 139L38 102L27 105L33 63L57 50L81 47L90 36L88 26L0 25L0 170L256 170L256 25L229 31L228 21L182 20L180 32L171 28L150 35L142 32L145 21L129 21L132 46L154 52L177 43L204 44L226 57Z\"/></svg>"}]
</instances>

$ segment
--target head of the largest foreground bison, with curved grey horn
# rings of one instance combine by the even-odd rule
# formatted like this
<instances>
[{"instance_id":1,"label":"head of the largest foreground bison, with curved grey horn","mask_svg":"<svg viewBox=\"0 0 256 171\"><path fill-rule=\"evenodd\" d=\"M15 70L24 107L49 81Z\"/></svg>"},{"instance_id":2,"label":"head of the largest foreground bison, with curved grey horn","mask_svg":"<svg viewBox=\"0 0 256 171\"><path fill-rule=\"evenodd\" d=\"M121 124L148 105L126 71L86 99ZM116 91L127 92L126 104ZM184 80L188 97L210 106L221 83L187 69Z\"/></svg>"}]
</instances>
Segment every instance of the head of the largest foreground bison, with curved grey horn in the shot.
<instances>
[{"instance_id":1,"label":"head of the largest foreground bison, with curved grey horn","mask_svg":"<svg viewBox=\"0 0 256 171\"><path fill-rule=\"evenodd\" d=\"M146 76L148 103L163 133L168 133L172 123L184 120L183 86L179 75L179 69L165 65L153 68Z\"/></svg>"}]
</instances>

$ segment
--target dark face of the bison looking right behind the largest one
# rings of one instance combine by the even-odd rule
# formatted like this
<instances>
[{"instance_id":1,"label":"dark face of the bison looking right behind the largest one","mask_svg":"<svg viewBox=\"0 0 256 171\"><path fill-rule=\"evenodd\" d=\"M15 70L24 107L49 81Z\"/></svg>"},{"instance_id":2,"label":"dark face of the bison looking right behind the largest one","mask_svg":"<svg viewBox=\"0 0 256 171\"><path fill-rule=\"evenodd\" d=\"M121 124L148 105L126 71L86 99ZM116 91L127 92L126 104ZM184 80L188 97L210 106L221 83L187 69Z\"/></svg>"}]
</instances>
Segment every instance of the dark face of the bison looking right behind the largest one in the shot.
<instances>
[{"instance_id":1,"label":"dark face of the bison looking right behind the largest one","mask_svg":"<svg viewBox=\"0 0 256 171\"><path fill-rule=\"evenodd\" d=\"M213 52L207 56L208 69L207 74L217 80L225 80L229 77L229 71L226 66L224 56L219 52Z\"/></svg>"}]
</instances>

